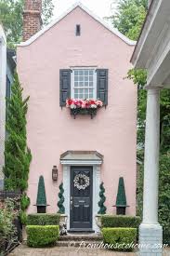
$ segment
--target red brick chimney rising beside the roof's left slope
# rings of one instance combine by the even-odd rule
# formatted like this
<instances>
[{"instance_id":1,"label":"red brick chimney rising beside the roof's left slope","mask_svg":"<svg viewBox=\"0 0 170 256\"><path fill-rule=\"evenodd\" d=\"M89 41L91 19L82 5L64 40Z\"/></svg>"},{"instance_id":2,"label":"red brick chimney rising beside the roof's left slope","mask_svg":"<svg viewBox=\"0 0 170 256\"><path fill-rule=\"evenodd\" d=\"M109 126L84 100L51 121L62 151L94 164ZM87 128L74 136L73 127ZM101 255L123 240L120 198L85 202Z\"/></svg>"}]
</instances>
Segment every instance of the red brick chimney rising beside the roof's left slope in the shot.
<instances>
[{"instance_id":1,"label":"red brick chimney rising beside the roof's left slope","mask_svg":"<svg viewBox=\"0 0 170 256\"><path fill-rule=\"evenodd\" d=\"M23 10L23 41L41 29L42 0L25 0Z\"/></svg>"}]
</instances>

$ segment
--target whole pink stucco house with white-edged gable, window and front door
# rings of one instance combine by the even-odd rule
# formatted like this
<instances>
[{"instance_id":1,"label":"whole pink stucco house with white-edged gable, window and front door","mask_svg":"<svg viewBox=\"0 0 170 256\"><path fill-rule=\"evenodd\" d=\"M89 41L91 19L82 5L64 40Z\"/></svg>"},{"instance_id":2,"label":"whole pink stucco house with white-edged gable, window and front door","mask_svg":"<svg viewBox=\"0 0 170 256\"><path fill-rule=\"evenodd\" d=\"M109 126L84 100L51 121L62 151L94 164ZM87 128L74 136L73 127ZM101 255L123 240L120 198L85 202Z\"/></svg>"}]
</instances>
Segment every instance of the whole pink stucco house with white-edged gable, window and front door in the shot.
<instances>
[{"instance_id":1,"label":"whole pink stucco house with white-edged gable, window and front door","mask_svg":"<svg viewBox=\"0 0 170 256\"><path fill-rule=\"evenodd\" d=\"M58 211L63 182L68 229L97 231L101 182L107 213L115 214L118 182L124 177L126 214L136 214L137 88L124 79L134 42L82 4L34 34L40 8L40 0L26 1L23 38L28 40L17 49L20 82L24 95L30 96L27 134L33 161L28 211L37 211L38 181L43 175L46 212ZM33 11L34 23L28 19ZM80 111L74 118L75 109L66 107L68 98L100 99L103 106L92 110L94 116ZM55 166L57 181L52 179Z\"/></svg>"}]
</instances>

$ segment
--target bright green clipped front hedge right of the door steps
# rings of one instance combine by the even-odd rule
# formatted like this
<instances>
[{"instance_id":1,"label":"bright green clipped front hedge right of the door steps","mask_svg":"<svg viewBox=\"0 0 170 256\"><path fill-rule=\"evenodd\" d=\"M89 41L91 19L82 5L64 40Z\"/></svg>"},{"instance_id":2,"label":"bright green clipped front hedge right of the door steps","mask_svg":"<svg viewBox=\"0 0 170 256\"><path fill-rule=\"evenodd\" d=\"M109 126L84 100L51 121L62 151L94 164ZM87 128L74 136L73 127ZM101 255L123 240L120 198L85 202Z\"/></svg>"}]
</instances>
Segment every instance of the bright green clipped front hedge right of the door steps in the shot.
<instances>
[{"instance_id":1,"label":"bright green clipped front hedge right of the door steps","mask_svg":"<svg viewBox=\"0 0 170 256\"><path fill-rule=\"evenodd\" d=\"M137 228L104 227L102 235L108 249L132 251L132 244L136 244Z\"/></svg>"}]
</instances>

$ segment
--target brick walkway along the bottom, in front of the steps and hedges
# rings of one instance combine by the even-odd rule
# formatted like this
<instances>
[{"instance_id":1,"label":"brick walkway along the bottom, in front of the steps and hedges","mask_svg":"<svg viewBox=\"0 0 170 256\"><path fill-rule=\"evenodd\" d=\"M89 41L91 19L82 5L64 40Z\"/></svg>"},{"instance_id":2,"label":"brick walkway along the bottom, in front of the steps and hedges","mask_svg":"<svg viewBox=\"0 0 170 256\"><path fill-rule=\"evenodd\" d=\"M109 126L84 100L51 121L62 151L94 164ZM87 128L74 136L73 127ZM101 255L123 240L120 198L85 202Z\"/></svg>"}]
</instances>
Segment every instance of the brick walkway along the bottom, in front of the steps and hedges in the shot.
<instances>
[{"instance_id":1,"label":"brick walkway along the bottom, in front of the steps and hedges","mask_svg":"<svg viewBox=\"0 0 170 256\"><path fill-rule=\"evenodd\" d=\"M45 249L28 248L20 245L10 256L137 256L134 252L113 252L106 249L78 249L71 247L54 247ZM170 256L170 249L163 250L163 256Z\"/></svg>"}]
</instances>

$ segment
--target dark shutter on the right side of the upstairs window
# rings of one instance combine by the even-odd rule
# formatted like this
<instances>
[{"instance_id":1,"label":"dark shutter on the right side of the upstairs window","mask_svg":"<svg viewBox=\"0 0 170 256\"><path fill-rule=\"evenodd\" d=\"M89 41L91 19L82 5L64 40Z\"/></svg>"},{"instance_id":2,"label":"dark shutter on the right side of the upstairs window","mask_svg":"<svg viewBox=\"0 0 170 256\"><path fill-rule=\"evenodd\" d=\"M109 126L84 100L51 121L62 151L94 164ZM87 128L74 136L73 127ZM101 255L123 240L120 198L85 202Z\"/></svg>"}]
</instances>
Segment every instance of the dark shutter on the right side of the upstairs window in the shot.
<instances>
[{"instance_id":1,"label":"dark shutter on the right side of the upstairs window","mask_svg":"<svg viewBox=\"0 0 170 256\"><path fill-rule=\"evenodd\" d=\"M108 104L108 69L97 69L97 98Z\"/></svg>"}]
</instances>

